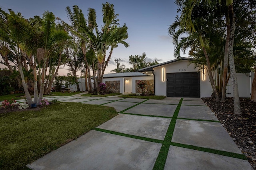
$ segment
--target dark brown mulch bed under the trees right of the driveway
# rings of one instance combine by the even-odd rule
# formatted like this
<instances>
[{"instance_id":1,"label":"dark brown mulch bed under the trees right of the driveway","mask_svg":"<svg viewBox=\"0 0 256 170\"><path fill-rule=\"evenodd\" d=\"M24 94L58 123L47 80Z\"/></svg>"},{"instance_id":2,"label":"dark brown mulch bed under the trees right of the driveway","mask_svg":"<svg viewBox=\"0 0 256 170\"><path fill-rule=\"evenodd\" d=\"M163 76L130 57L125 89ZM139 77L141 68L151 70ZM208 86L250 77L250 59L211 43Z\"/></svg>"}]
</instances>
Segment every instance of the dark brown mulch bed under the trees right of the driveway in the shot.
<instances>
[{"instance_id":1,"label":"dark brown mulch bed under the trees right of the driveway","mask_svg":"<svg viewBox=\"0 0 256 170\"><path fill-rule=\"evenodd\" d=\"M203 102L212 109L238 148L248 158L256 170L256 103L249 98L240 98L242 114L233 113L233 98L226 102L216 102L215 98L202 98Z\"/></svg>"}]
</instances>

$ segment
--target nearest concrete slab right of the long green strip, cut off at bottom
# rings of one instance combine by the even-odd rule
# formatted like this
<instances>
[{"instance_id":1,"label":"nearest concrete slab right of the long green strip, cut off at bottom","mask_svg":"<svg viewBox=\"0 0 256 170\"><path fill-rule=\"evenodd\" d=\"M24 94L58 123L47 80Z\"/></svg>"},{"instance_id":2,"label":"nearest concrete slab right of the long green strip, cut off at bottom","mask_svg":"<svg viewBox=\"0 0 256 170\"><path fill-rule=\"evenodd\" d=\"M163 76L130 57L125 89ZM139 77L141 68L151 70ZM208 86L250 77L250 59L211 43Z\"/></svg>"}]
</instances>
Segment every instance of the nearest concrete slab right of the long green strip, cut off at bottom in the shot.
<instances>
[{"instance_id":1,"label":"nearest concrete slab right of the long green strip, cut off at bottom","mask_svg":"<svg viewBox=\"0 0 256 170\"><path fill-rule=\"evenodd\" d=\"M170 146L164 170L253 170L247 160Z\"/></svg>"}]
</instances>

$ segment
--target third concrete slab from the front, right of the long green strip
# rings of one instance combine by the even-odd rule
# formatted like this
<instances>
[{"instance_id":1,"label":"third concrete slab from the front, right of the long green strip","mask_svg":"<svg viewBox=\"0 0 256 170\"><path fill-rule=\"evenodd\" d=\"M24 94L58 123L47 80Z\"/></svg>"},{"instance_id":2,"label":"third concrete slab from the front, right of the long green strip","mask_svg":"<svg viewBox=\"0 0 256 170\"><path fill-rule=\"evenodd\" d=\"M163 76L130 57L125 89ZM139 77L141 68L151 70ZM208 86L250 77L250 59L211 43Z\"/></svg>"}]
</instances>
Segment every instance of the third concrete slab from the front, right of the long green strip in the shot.
<instances>
[{"instance_id":1,"label":"third concrete slab from the front, right of the long green strip","mask_svg":"<svg viewBox=\"0 0 256 170\"><path fill-rule=\"evenodd\" d=\"M180 107L180 111L178 114L179 118L187 118L187 119L204 119L204 120L216 120L217 117L214 113L209 109L209 107L202 106L184 106Z\"/></svg>"}]
</instances>

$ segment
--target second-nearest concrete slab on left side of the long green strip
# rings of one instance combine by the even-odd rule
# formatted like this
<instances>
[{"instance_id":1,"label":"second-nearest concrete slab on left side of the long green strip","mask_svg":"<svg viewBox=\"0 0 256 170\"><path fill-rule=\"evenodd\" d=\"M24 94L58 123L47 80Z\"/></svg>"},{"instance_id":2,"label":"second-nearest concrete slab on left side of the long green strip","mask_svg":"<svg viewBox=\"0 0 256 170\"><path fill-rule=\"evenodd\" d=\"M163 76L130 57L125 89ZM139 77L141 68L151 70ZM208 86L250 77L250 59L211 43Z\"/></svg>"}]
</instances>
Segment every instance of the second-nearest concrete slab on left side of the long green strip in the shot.
<instances>
[{"instance_id":1,"label":"second-nearest concrete slab on left side of the long green strip","mask_svg":"<svg viewBox=\"0 0 256 170\"><path fill-rule=\"evenodd\" d=\"M169 118L119 114L98 128L164 140L170 121Z\"/></svg>"}]
</instances>

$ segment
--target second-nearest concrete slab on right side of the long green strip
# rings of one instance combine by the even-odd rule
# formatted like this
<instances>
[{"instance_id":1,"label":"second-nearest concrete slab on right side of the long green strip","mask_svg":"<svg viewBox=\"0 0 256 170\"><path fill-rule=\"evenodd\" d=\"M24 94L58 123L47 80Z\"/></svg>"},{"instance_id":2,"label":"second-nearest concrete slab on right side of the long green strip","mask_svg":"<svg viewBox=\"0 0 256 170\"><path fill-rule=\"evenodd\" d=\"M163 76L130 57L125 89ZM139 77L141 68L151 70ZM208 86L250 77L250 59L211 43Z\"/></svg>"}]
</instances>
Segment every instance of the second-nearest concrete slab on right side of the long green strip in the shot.
<instances>
[{"instance_id":1,"label":"second-nearest concrete slab on right side of the long green strip","mask_svg":"<svg viewBox=\"0 0 256 170\"><path fill-rule=\"evenodd\" d=\"M217 122L177 119L172 142L241 154L227 131Z\"/></svg>"}]
</instances>

